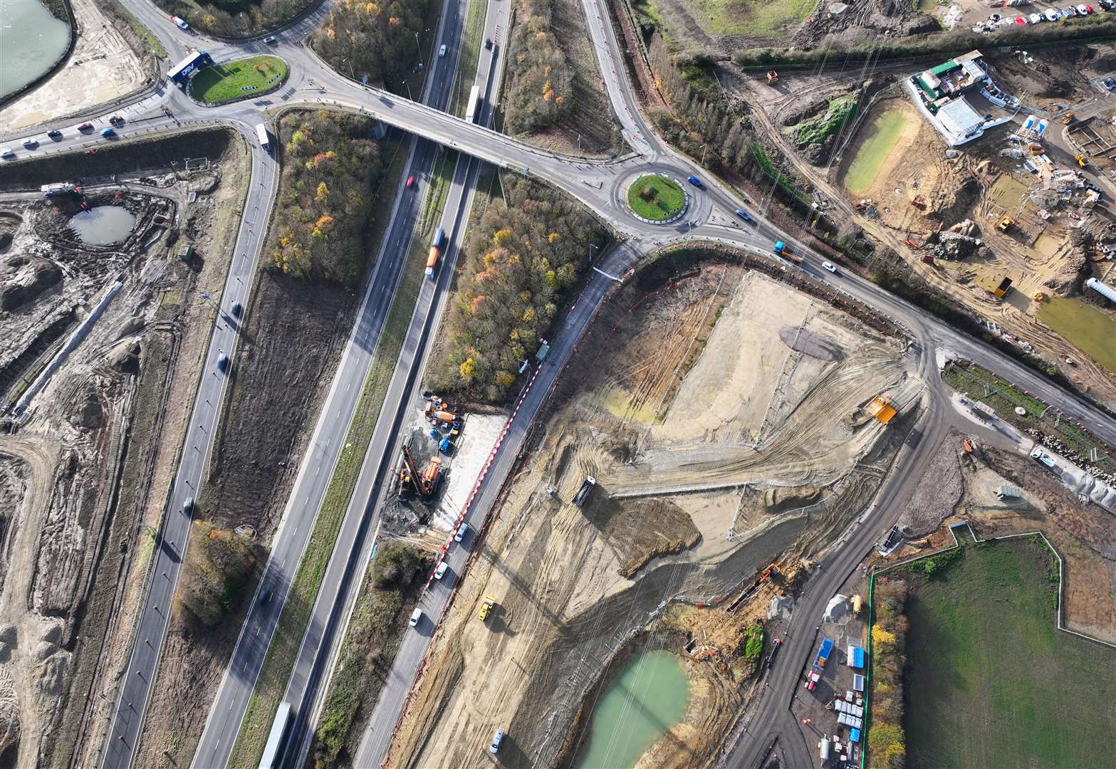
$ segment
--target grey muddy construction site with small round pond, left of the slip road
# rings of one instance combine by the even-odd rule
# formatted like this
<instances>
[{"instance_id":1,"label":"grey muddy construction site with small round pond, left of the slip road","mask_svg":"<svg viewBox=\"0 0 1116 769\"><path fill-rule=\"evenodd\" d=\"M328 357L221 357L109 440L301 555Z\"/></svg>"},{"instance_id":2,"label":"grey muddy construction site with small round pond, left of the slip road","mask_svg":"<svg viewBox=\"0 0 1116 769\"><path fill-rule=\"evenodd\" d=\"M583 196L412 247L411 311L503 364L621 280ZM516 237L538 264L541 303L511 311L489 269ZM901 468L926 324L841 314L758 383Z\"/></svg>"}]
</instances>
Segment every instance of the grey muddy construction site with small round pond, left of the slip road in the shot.
<instances>
[{"instance_id":1,"label":"grey muddy construction site with small round pond, left of the slip road","mask_svg":"<svg viewBox=\"0 0 1116 769\"><path fill-rule=\"evenodd\" d=\"M151 143L0 194L4 766L84 763L107 724L235 234L243 148L198 138L212 163Z\"/></svg>"}]
</instances>

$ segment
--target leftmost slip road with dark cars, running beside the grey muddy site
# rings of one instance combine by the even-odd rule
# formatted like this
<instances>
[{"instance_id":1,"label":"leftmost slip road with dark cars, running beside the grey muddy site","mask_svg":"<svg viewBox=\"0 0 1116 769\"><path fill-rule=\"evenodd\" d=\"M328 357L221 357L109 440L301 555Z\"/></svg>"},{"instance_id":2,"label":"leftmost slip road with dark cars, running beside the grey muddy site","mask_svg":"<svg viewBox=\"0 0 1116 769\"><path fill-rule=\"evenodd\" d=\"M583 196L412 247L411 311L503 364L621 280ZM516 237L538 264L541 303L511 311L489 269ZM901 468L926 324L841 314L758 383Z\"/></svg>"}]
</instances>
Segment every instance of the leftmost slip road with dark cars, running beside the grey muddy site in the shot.
<instances>
[{"instance_id":1,"label":"leftmost slip road with dark cars, running beside the grey muddy site","mask_svg":"<svg viewBox=\"0 0 1116 769\"><path fill-rule=\"evenodd\" d=\"M247 126L242 126L242 129L249 131ZM182 552L190 536L192 500L196 498L201 486L228 373L237 365L239 321L231 315L231 308L237 302L242 306L248 304L256 254L262 248L263 224L270 215L278 186L278 166L275 160L258 147L252 151L250 184L251 193L246 199L246 215L237 237L224 290L209 300L213 304L213 331L193 408L187 414L185 440L167 499L163 529L156 537L147 596L141 609L128 665L119 680L118 699L102 756L103 767L123 768L132 762L151 694L151 683L157 672L160 651L166 635ZM218 367L218 358L222 355L228 356L230 362L227 371Z\"/></svg>"}]
</instances>

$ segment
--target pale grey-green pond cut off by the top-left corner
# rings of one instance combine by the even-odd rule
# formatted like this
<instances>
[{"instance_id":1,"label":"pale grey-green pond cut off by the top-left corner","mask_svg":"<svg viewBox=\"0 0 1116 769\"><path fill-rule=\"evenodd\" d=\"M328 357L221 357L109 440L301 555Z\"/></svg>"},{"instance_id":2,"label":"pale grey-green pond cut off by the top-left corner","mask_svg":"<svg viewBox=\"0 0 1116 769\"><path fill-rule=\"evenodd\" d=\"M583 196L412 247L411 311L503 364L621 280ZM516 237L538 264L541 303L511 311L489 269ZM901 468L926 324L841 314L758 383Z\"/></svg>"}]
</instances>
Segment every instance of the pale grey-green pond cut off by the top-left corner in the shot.
<instances>
[{"instance_id":1,"label":"pale grey-green pond cut off by the top-left corner","mask_svg":"<svg viewBox=\"0 0 1116 769\"><path fill-rule=\"evenodd\" d=\"M69 25L39 0L0 0L0 96L46 73L69 46Z\"/></svg>"}]
</instances>

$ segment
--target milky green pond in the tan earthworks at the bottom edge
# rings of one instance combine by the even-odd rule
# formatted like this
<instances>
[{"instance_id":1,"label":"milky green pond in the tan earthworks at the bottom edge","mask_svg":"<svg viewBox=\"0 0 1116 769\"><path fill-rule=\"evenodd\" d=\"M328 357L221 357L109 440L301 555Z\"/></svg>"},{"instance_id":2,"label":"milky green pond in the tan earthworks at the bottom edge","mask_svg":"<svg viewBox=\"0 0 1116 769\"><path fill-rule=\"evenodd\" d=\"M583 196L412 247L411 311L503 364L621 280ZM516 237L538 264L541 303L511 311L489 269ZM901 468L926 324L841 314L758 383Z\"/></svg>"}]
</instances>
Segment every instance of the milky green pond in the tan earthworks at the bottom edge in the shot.
<instances>
[{"instance_id":1,"label":"milky green pond in the tan earthworks at the bottom edge","mask_svg":"<svg viewBox=\"0 0 1116 769\"><path fill-rule=\"evenodd\" d=\"M578 769L631 769L690 704L682 662L671 652L634 656L593 709Z\"/></svg>"}]
</instances>

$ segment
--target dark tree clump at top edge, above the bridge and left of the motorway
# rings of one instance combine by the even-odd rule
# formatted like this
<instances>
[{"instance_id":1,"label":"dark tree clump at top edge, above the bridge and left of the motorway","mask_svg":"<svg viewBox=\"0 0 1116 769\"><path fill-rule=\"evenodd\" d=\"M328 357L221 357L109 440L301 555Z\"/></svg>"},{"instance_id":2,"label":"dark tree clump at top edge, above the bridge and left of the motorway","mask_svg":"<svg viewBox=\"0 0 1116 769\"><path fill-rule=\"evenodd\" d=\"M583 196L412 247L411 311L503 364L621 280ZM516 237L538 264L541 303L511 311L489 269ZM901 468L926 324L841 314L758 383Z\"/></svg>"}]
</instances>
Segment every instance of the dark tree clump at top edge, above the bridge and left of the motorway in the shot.
<instances>
[{"instance_id":1,"label":"dark tree clump at top edge, above the bridge and left of the motorway","mask_svg":"<svg viewBox=\"0 0 1116 769\"><path fill-rule=\"evenodd\" d=\"M314 33L314 49L341 75L397 89L419 64L415 32L424 31L430 7L431 0L337 0Z\"/></svg>"}]
</instances>

